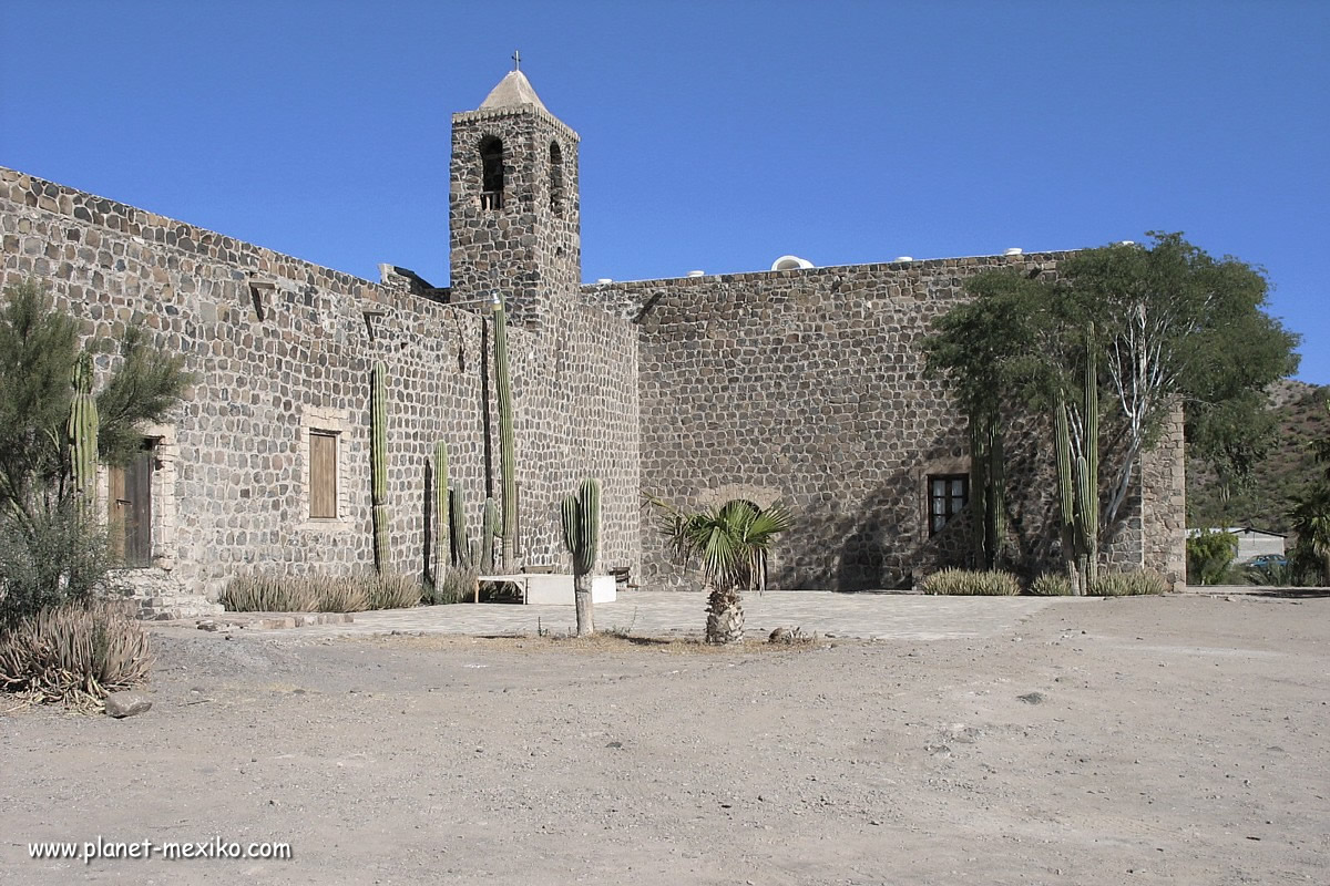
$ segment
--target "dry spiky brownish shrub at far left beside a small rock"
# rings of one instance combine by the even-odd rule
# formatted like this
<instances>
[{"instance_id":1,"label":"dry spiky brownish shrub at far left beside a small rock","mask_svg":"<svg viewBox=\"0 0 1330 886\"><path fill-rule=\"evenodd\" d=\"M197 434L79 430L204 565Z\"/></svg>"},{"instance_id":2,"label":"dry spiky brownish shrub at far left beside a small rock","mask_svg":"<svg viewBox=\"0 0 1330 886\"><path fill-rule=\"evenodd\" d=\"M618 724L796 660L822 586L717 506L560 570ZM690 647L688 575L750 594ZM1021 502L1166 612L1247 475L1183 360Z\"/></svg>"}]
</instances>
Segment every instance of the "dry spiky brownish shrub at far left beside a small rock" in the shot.
<instances>
[{"instance_id":1,"label":"dry spiky brownish shrub at far left beside a small rock","mask_svg":"<svg viewBox=\"0 0 1330 886\"><path fill-rule=\"evenodd\" d=\"M0 636L0 688L40 701L96 701L150 665L148 635L122 600L55 606Z\"/></svg>"}]
</instances>

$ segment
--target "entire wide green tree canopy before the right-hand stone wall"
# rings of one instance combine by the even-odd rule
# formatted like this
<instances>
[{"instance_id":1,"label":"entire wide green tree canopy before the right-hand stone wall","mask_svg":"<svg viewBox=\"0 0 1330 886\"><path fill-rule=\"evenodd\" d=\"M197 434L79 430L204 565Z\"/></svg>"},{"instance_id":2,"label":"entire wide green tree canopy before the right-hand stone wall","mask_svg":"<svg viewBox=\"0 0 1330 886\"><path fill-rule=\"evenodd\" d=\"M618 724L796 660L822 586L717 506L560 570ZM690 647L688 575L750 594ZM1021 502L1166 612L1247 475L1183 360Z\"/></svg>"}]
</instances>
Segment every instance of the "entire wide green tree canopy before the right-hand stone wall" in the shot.
<instances>
[{"instance_id":1,"label":"entire wide green tree canopy before the right-hand stone wall","mask_svg":"<svg viewBox=\"0 0 1330 886\"><path fill-rule=\"evenodd\" d=\"M1097 436L1108 444L1093 472L1107 493L1101 535L1116 530L1140 456L1176 402L1185 406L1192 445L1226 460L1238 482L1269 445L1269 426L1253 417L1260 392L1297 368L1297 337L1265 313L1260 268L1214 259L1181 234L1149 236L1150 244L1076 252L1056 279L1013 270L976 275L966 287L974 300L943 316L926 343L928 369L967 413L1005 399L1051 417L1067 409L1073 464L1092 464L1087 432L1096 416L1085 414L1092 401L1080 392L1093 360Z\"/></svg>"}]
</instances>

